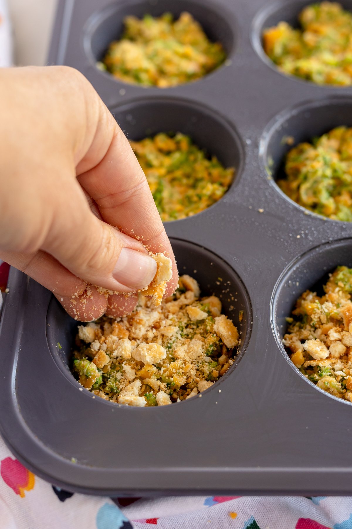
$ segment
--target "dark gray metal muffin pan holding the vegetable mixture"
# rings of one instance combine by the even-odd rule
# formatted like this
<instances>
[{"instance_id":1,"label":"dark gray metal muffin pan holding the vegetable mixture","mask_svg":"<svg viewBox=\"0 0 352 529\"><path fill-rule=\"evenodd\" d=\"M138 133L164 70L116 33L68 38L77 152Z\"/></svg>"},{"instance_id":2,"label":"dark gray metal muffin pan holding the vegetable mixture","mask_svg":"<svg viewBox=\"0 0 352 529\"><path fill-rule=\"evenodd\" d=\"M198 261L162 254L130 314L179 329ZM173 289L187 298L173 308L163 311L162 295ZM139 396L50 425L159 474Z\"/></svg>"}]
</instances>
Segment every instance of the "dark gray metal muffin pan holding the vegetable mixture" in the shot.
<instances>
[{"instance_id":1,"label":"dark gray metal muffin pan holding the vegetable mixture","mask_svg":"<svg viewBox=\"0 0 352 529\"><path fill-rule=\"evenodd\" d=\"M226 375L186 402L141 409L93 399L68 368L77 322L12 270L0 328L0 430L16 457L51 483L110 496L352 494L352 406L303 378L281 343L284 317L302 291L321 288L337 265L352 266L352 224L307 213L275 184L290 148L285 136L297 143L352 126L352 88L284 76L263 55L263 27L294 21L303 5L59 3L49 63L81 70L130 139L184 132L235 166L219 202L165 227L180 273L194 275L204 294L222 296L242 344ZM227 50L210 75L144 88L95 66L123 16L183 10Z\"/></svg>"}]
</instances>

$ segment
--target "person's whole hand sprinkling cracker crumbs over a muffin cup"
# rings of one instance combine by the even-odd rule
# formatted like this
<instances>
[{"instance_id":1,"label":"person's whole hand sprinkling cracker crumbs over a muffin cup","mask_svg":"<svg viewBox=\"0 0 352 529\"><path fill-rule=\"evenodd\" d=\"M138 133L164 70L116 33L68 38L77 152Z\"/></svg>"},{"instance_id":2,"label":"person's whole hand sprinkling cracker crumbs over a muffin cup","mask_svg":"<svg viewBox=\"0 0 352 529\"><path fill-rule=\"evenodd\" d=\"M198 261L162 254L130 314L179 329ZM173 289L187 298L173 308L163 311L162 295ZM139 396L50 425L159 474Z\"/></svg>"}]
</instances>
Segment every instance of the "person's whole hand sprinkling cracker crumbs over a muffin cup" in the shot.
<instances>
[{"instance_id":1,"label":"person's whole hand sprinkling cracker crumbs over a muffin cup","mask_svg":"<svg viewBox=\"0 0 352 529\"><path fill-rule=\"evenodd\" d=\"M0 69L0 258L81 321L120 316L174 254L126 136L77 70ZM95 285L88 288L87 284Z\"/></svg>"}]
</instances>

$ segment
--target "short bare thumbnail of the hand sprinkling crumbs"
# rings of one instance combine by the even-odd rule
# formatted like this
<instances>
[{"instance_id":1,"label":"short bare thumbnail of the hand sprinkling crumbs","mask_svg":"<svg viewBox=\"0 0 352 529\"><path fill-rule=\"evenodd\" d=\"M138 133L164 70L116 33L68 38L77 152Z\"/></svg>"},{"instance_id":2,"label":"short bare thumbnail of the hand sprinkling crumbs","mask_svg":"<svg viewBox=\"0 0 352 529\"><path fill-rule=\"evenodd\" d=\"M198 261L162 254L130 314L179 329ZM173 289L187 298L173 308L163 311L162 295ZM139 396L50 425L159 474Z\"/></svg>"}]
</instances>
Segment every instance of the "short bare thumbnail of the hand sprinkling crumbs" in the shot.
<instances>
[{"instance_id":1,"label":"short bare thumbnail of the hand sprinkling crumbs","mask_svg":"<svg viewBox=\"0 0 352 529\"><path fill-rule=\"evenodd\" d=\"M146 253L122 248L112 276L134 290L145 288L156 274L156 262Z\"/></svg>"}]
</instances>

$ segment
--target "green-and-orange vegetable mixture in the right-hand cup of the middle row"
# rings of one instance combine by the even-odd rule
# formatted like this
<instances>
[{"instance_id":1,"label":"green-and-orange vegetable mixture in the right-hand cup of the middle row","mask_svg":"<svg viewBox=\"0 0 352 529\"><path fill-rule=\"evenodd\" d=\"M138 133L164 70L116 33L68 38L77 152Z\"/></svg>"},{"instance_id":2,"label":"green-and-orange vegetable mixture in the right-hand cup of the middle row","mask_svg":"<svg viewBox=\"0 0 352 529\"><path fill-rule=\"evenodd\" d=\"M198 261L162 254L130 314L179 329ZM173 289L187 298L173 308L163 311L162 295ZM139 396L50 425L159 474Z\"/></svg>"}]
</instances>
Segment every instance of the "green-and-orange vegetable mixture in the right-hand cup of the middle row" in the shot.
<instances>
[{"instance_id":1,"label":"green-and-orange vegetable mixture in the right-hand cup of the middle row","mask_svg":"<svg viewBox=\"0 0 352 529\"><path fill-rule=\"evenodd\" d=\"M336 127L286 158L282 191L300 206L332 220L352 222L352 128Z\"/></svg>"}]
</instances>

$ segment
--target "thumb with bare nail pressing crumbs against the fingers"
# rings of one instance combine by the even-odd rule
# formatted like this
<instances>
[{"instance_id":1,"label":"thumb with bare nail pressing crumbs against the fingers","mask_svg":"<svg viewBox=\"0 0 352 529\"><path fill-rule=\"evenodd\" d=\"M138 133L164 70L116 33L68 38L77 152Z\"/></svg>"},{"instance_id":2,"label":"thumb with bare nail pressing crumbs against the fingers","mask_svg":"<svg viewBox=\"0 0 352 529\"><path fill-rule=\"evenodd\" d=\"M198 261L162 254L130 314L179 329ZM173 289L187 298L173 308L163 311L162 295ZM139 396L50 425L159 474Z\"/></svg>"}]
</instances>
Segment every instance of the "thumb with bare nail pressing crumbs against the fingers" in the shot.
<instances>
[{"instance_id":1,"label":"thumb with bare nail pressing crumbs against the fingers","mask_svg":"<svg viewBox=\"0 0 352 529\"><path fill-rule=\"evenodd\" d=\"M155 260L138 241L94 216L77 181L72 185L63 193L65 206L55 208L42 249L92 285L117 292L145 288L156 274Z\"/></svg>"}]
</instances>

